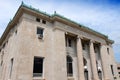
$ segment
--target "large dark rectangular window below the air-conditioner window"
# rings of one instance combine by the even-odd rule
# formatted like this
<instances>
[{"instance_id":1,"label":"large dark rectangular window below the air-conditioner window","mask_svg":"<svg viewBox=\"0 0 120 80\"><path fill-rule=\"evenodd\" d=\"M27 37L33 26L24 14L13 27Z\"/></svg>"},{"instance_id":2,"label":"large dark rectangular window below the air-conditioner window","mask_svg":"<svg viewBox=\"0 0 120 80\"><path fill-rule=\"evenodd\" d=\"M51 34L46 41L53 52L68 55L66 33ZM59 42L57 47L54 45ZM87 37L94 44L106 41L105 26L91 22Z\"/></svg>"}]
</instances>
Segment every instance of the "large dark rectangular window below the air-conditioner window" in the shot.
<instances>
[{"instance_id":1,"label":"large dark rectangular window below the air-conditioner window","mask_svg":"<svg viewBox=\"0 0 120 80\"><path fill-rule=\"evenodd\" d=\"M33 77L41 77L43 74L43 58L34 57Z\"/></svg>"}]
</instances>

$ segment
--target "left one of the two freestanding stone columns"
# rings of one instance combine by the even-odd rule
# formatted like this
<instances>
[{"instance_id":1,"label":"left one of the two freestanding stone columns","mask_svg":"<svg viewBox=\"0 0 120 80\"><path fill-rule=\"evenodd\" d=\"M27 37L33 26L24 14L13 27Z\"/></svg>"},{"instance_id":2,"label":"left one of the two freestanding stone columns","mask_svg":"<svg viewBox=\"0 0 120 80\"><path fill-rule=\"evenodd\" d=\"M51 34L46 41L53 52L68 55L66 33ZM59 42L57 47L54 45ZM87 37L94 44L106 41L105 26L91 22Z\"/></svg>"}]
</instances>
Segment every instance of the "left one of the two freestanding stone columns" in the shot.
<instances>
[{"instance_id":1,"label":"left one of the two freestanding stone columns","mask_svg":"<svg viewBox=\"0 0 120 80\"><path fill-rule=\"evenodd\" d=\"M78 79L84 79L84 65L83 65L83 52L82 52L82 44L81 39L78 37L77 39L77 57L78 57Z\"/></svg>"}]
</instances>

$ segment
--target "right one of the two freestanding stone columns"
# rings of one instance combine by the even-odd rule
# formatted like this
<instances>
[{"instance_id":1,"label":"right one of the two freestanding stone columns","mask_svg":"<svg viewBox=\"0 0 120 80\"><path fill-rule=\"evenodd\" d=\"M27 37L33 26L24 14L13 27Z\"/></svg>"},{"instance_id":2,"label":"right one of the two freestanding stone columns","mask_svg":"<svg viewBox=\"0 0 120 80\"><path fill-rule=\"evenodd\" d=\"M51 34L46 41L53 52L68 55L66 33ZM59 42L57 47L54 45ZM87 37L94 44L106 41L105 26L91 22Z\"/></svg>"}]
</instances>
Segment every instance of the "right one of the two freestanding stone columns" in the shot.
<instances>
[{"instance_id":1,"label":"right one of the two freestanding stone columns","mask_svg":"<svg viewBox=\"0 0 120 80\"><path fill-rule=\"evenodd\" d=\"M95 56L94 45L92 40L90 41L90 59L91 59L91 69L92 69L92 80L99 80L97 66L96 66L96 56Z\"/></svg>"}]
</instances>

